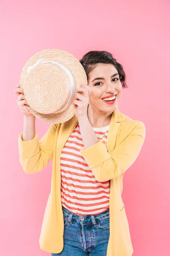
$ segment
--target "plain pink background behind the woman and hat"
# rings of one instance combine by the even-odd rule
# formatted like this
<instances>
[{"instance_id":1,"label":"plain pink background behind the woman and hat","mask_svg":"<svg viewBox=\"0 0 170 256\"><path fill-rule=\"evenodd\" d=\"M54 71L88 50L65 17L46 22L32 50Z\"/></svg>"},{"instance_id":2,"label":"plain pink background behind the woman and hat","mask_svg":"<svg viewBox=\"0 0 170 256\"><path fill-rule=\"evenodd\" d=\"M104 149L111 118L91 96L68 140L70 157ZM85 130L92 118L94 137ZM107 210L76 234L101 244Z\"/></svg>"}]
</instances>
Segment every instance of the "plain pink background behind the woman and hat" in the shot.
<instances>
[{"instance_id":1,"label":"plain pink background behind the woman and hat","mask_svg":"<svg viewBox=\"0 0 170 256\"><path fill-rule=\"evenodd\" d=\"M39 247L52 161L26 175L19 163L23 114L14 87L34 53L63 49L78 59L107 50L127 75L119 110L146 126L122 194L133 256L170 253L170 2L168 0L0 1L0 255L50 255ZM39 139L49 124L36 119Z\"/></svg>"}]
</instances>

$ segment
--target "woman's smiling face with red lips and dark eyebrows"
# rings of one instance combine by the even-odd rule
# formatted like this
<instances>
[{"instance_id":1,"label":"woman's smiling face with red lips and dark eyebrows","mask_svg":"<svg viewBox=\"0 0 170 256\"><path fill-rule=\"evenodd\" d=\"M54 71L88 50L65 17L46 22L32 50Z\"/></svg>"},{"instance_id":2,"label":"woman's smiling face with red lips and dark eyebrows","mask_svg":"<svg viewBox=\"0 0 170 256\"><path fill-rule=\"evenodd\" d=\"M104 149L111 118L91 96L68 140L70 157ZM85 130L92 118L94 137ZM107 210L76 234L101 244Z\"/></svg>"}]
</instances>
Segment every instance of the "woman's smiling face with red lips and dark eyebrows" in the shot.
<instances>
[{"instance_id":1,"label":"woman's smiling face with red lips and dark eyebrows","mask_svg":"<svg viewBox=\"0 0 170 256\"><path fill-rule=\"evenodd\" d=\"M117 75L115 75L117 73ZM97 78L97 79L96 79ZM100 79L99 79L100 78ZM95 79L95 81L94 81ZM113 64L99 64L89 73L88 86L91 88L89 101L91 107L105 112L113 112L118 107L122 84ZM111 98L115 97L116 99ZM110 100L104 101L103 98Z\"/></svg>"}]
</instances>

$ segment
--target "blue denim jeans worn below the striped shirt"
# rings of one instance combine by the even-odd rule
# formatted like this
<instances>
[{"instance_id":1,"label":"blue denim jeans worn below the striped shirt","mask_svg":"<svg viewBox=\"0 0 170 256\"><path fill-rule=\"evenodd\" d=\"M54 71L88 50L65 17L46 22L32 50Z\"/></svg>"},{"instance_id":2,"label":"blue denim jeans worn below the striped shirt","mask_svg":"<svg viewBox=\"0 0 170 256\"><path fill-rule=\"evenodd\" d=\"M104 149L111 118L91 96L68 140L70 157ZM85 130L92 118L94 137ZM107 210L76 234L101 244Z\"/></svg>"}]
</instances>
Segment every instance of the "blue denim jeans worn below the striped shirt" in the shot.
<instances>
[{"instance_id":1,"label":"blue denim jeans worn below the striped shirt","mask_svg":"<svg viewBox=\"0 0 170 256\"><path fill-rule=\"evenodd\" d=\"M51 256L106 256L109 209L96 215L76 215L62 206L64 216L64 247Z\"/></svg>"}]
</instances>

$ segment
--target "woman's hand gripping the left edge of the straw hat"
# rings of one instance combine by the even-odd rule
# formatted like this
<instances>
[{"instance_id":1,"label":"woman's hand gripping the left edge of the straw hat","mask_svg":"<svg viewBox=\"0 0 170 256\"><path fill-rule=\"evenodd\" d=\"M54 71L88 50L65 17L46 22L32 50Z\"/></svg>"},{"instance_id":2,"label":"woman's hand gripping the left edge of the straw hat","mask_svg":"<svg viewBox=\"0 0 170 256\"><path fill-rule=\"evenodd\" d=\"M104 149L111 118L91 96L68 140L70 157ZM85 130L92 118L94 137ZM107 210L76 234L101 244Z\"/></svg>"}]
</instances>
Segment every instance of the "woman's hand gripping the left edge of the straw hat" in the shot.
<instances>
[{"instance_id":1,"label":"woman's hand gripping the left edge of the straw hat","mask_svg":"<svg viewBox=\"0 0 170 256\"><path fill-rule=\"evenodd\" d=\"M17 94L18 99L17 99L17 105L18 107L20 107L21 112L24 114L24 116L34 116L29 110L28 108L26 108L26 105L28 105L25 95L24 95L24 90L22 88L20 88L20 84L18 84L15 89L14 92ZM28 105L28 107L30 107ZM35 117L35 116L34 116Z\"/></svg>"}]
</instances>

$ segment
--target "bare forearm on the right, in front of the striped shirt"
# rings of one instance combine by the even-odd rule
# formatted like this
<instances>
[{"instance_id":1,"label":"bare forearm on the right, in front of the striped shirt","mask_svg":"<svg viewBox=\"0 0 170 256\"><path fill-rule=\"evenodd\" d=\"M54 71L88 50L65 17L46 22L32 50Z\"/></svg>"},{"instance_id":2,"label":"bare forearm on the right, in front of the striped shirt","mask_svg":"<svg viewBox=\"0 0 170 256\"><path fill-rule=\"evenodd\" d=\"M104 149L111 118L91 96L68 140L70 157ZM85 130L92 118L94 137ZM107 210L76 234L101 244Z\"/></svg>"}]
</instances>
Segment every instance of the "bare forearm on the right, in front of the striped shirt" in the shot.
<instances>
[{"instance_id":1,"label":"bare forearm on the right, in front of the striped shirt","mask_svg":"<svg viewBox=\"0 0 170 256\"><path fill-rule=\"evenodd\" d=\"M99 141L88 120L88 116L87 118L79 119L79 128L85 149L90 148Z\"/></svg>"}]
</instances>

